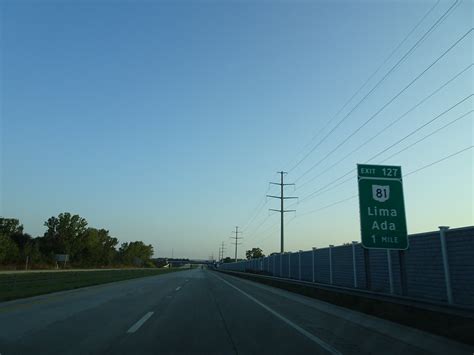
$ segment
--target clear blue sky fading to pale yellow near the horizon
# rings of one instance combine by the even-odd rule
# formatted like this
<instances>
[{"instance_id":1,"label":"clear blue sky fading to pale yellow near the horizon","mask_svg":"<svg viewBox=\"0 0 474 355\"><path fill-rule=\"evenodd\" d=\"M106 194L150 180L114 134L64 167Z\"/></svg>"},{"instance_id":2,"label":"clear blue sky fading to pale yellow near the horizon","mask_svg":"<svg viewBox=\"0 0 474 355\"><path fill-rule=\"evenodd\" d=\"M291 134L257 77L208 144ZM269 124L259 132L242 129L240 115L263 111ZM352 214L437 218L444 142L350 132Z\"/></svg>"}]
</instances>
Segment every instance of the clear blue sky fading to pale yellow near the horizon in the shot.
<instances>
[{"instance_id":1,"label":"clear blue sky fading to pale yellow near the horizon","mask_svg":"<svg viewBox=\"0 0 474 355\"><path fill-rule=\"evenodd\" d=\"M278 250L268 182L304 156L451 6L440 1L2 1L1 206L28 233L69 211L156 255L207 258L235 225L243 250ZM473 27L461 1L331 136L287 176L303 199L473 93L472 33L352 139L367 118ZM468 99L408 140L473 108ZM472 146L472 113L391 158L404 173ZM318 133L319 132L319 133ZM311 145L310 145L311 147ZM321 173L323 175L303 185ZM472 149L405 179L409 232L473 224ZM271 192L277 192L268 190ZM359 240L354 178L288 214L289 250ZM257 209L256 209L257 208ZM256 216L253 216L256 211ZM231 254L226 254L231 255ZM233 255L233 253L232 253Z\"/></svg>"}]
</instances>

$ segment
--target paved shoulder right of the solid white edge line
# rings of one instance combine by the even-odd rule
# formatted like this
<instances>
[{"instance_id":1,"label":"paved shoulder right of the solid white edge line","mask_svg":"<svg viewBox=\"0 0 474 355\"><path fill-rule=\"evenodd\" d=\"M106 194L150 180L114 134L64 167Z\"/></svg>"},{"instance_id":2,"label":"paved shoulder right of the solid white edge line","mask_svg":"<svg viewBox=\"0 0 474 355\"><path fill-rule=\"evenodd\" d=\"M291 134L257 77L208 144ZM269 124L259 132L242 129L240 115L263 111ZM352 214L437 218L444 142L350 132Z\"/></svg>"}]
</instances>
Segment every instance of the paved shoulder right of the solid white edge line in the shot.
<instances>
[{"instance_id":1,"label":"paved shoulder right of the solid white edge line","mask_svg":"<svg viewBox=\"0 0 474 355\"><path fill-rule=\"evenodd\" d=\"M278 288L223 273L215 273L215 277L276 314L274 322L277 318L291 322L309 333L308 337L316 337L340 353L379 353L381 349L384 354L470 354L474 351L472 347L443 337Z\"/></svg>"}]
</instances>

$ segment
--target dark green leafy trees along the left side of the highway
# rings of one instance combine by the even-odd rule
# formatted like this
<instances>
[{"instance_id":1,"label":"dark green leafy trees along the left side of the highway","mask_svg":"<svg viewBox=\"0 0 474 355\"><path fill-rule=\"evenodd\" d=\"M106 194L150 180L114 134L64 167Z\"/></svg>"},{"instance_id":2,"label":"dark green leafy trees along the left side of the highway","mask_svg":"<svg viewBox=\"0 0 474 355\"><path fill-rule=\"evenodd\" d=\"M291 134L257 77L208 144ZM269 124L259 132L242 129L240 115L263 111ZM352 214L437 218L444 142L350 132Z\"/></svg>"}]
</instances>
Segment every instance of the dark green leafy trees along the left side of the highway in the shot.
<instances>
[{"instance_id":1,"label":"dark green leafy trees along the left side of the highway","mask_svg":"<svg viewBox=\"0 0 474 355\"><path fill-rule=\"evenodd\" d=\"M119 246L108 230L88 227L77 214L61 213L44 226L44 235L33 238L18 219L0 217L0 265L51 267L64 260L59 255L67 255L71 267L154 266L152 245L134 241Z\"/></svg>"}]
</instances>

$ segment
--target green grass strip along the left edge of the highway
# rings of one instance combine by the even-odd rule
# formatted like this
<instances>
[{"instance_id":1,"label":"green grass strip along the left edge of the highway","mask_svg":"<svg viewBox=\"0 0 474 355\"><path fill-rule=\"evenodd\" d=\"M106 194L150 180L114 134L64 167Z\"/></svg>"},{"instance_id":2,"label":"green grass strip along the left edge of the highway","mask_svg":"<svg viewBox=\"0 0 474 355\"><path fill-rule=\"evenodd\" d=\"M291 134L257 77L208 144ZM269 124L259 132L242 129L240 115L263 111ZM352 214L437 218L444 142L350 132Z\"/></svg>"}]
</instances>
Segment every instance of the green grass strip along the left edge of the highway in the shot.
<instances>
[{"instance_id":1,"label":"green grass strip along the left edge of the highway","mask_svg":"<svg viewBox=\"0 0 474 355\"><path fill-rule=\"evenodd\" d=\"M186 269L118 269L0 274L0 302L182 270Z\"/></svg>"}]
</instances>

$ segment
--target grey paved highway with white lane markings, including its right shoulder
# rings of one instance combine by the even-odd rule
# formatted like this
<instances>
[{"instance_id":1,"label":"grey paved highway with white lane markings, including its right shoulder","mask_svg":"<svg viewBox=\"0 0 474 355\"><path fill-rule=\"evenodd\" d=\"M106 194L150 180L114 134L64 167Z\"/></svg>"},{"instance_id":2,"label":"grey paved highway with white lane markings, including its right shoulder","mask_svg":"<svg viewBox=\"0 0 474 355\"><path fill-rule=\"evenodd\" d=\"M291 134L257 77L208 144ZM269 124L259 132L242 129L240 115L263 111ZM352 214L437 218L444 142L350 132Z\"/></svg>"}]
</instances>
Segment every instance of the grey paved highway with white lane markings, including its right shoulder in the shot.
<instances>
[{"instance_id":1,"label":"grey paved highway with white lane markings, including its right shoulder","mask_svg":"<svg viewBox=\"0 0 474 355\"><path fill-rule=\"evenodd\" d=\"M206 269L0 303L0 354L472 354L472 347Z\"/></svg>"}]
</instances>

